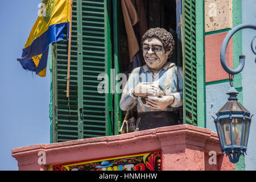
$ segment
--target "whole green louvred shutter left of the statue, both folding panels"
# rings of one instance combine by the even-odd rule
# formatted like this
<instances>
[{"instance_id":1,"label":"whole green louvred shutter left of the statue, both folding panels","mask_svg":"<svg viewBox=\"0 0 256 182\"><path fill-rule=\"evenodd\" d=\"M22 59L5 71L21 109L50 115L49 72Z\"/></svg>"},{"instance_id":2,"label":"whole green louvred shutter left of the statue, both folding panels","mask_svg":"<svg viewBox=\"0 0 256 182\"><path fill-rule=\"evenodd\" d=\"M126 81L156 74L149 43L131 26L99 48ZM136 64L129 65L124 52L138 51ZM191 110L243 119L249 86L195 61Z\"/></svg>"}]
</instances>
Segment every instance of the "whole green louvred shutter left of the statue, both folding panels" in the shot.
<instances>
[{"instance_id":1,"label":"whole green louvred shutter left of the statue, both folding panels","mask_svg":"<svg viewBox=\"0 0 256 182\"><path fill-rule=\"evenodd\" d=\"M97 92L112 63L108 2L73 1L69 99L67 32L52 44L52 142L112 135L112 94Z\"/></svg>"}]
</instances>

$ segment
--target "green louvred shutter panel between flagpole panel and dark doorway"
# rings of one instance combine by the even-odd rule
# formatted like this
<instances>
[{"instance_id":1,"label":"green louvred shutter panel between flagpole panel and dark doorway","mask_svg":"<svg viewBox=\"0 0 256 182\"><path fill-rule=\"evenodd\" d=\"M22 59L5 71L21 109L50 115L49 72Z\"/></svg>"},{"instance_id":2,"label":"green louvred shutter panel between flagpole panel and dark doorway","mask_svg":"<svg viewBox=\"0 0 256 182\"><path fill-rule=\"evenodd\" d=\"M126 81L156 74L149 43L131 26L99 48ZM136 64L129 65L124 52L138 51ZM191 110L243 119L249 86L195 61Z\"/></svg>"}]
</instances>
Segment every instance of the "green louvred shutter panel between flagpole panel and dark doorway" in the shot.
<instances>
[{"instance_id":1,"label":"green louvred shutter panel between flagpole panel and dark doorway","mask_svg":"<svg viewBox=\"0 0 256 182\"><path fill-rule=\"evenodd\" d=\"M81 1L82 7L82 81L84 138L112 135L112 94L100 94L100 73L110 79L112 42L111 9L108 0Z\"/></svg>"}]
</instances>

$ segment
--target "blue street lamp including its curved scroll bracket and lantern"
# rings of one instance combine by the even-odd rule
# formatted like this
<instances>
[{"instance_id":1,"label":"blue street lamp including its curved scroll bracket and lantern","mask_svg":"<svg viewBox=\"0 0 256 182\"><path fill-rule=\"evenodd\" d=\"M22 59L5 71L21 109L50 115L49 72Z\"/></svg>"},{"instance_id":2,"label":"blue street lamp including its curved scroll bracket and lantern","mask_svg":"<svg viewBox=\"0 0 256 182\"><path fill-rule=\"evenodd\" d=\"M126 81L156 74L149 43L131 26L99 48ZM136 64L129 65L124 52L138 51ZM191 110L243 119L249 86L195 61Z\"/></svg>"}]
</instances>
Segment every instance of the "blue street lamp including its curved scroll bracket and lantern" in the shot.
<instances>
[{"instance_id":1,"label":"blue street lamp including its curved scroll bracket and lantern","mask_svg":"<svg viewBox=\"0 0 256 182\"><path fill-rule=\"evenodd\" d=\"M239 158L244 153L246 154L247 143L249 139L249 131L251 124L250 112L245 109L237 100L237 90L233 87L233 75L242 71L245 65L245 56L240 56L240 64L236 69L230 69L226 64L225 54L226 47L228 46L230 38L243 28L251 28L256 30L255 25L252 24L240 24L228 32L225 39L222 42L220 59L223 69L229 73L230 89L228 91L228 102L216 113L217 118L214 119L216 126L218 139L220 140L220 146L222 154L229 156L229 160L232 163L237 163ZM255 38L255 37L254 37ZM253 40L254 40L253 38ZM251 45L253 44L253 40ZM253 46L251 46L253 52ZM255 52L254 52L255 53Z\"/></svg>"}]
</instances>

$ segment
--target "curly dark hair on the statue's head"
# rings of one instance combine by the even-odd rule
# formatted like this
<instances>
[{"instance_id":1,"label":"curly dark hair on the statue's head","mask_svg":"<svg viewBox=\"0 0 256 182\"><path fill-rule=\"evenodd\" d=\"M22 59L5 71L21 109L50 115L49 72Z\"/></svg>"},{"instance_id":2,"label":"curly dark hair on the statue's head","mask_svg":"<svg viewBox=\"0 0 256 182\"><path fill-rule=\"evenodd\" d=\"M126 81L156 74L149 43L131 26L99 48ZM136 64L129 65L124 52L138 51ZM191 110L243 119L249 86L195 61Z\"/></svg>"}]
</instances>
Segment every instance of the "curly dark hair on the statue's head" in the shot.
<instances>
[{"instance_id":1,"label":"curly dark hair on the statue's head","mask_svg":"<svg viewBox=\"0 0 256 182\"><path fill-rule=\"evenodd\" d=\"M174 38L172 37L171 33L166 31L164 28L150 28L146 31L146 33L142 36L141 45L143 44L144 40L147 38L157 38L162 42L164 51L170 51L168 57L171 57L172 53L174 52Z\"/></svg>"}]
</instances>

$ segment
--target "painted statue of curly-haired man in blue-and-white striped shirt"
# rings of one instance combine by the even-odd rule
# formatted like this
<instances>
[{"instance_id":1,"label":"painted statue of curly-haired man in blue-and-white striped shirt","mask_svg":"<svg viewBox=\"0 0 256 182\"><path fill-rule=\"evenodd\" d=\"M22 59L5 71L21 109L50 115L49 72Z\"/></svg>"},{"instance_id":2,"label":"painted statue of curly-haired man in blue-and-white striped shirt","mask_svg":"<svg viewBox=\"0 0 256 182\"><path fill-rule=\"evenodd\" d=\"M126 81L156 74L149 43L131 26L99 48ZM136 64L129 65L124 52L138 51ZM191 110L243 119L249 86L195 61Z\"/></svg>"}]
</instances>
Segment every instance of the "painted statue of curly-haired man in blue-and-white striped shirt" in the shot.
<instances>
[{"instance_id":1,"label":"painted statue of curly-haired man in blue-and-white striped shirt","mask_svg":"<svg viewBox=\"0 0 256 182\"><path fill-rule=\"evenodd\" d=\"M143 67L135 68L122 92L120 107L137 106L137 131L178 125L177 107L183 105L183 72L168 62L174 39L163 28L151 28L142 38Z\"/></svg>"}]
</instances>

